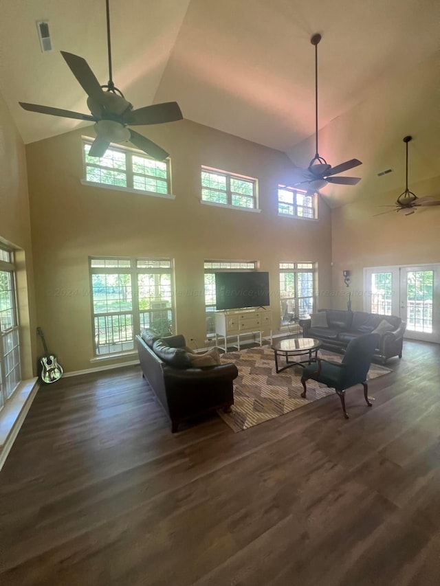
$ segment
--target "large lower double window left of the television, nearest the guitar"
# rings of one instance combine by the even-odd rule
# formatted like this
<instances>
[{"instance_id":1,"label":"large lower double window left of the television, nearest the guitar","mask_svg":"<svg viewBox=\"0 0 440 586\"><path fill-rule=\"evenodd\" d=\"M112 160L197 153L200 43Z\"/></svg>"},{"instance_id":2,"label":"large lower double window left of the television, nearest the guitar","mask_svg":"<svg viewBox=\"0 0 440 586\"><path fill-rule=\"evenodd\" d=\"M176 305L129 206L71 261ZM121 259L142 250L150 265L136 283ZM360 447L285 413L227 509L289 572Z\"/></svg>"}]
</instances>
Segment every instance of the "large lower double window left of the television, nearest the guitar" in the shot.
<instances>
[{"instance_id":1,"label":"large lower double window left of the television, nearest the guitar","mask_svg":"<svg viewBox=\"0 0 440 586\"><path fill-rule=\"evenodd\" d=\"M174 332L173 262L167 258L91 258L95 354L134 350L135 335Z\"/></svg>"}]
</instances>

